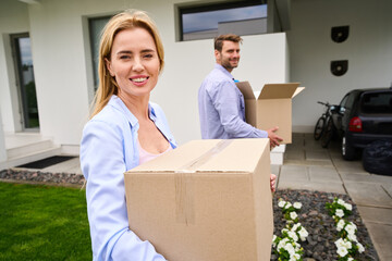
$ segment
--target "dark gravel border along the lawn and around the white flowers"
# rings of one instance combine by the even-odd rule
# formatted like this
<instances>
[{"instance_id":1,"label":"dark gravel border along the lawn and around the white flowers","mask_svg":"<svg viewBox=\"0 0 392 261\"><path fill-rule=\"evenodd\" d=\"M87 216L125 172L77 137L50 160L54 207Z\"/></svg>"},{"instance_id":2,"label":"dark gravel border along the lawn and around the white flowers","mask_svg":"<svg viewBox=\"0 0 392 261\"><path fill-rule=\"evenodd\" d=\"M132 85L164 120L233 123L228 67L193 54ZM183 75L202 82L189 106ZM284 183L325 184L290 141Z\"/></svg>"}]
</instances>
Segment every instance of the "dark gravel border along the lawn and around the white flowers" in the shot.
<instances>
[{"instance_id":1,"label":"dark gravel border along the lawn and around the white flowers","mask_svg":"<svg viewBox=\"0 0 392 261\"><path fill-rule=\"evenodd\" d=\"M16 183L39 183L60 186L77 186L83 188L85 178L81 174L74 173L49 173L30 170L8 169L0 171L0 179ZM278 207L278 200L282 198L291 203L301 202L302 209L297 211L299 223L308 231L307 240L301 243L304 248L304 260L306 261L334 261L338 260L334 241L338 238L335 224L326 210L326 202L332 202L338 197L353 206L353 214L347 217L348 221L357 225L358 241L364 245L365 252L356 257L357 261L375 260L379 261L377 251L369 237L368 231L359 216L356 204L348 195L320 192L310 190L291 190L278 189L273 197L274 213L274 234L281 236L281 229L285 225L285 220L281 208ZM278 257L271 251L271 260L278 260Z\"/></svg>"}]
</instances>

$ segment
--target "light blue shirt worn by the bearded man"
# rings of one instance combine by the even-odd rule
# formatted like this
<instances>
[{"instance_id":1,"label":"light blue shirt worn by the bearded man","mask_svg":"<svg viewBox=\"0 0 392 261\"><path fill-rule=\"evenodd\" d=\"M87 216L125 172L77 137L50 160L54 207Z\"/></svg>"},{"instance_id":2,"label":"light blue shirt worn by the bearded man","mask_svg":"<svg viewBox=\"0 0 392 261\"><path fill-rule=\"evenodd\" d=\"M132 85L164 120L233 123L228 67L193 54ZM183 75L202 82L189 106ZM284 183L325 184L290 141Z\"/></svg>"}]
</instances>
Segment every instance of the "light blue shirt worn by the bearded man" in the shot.
<instances>
[{"instance_id":1,"label":"light blue shirt worn by the bearded man","mask_svg":"<svg viewBox=\"0 0 392 261\"><path fill-rule=\"evenodd\" d=\"M244 96L234 77L216 64L198 91L201 138L267 138L268 133L245 122Z\"/></svg>"}]
</instances>

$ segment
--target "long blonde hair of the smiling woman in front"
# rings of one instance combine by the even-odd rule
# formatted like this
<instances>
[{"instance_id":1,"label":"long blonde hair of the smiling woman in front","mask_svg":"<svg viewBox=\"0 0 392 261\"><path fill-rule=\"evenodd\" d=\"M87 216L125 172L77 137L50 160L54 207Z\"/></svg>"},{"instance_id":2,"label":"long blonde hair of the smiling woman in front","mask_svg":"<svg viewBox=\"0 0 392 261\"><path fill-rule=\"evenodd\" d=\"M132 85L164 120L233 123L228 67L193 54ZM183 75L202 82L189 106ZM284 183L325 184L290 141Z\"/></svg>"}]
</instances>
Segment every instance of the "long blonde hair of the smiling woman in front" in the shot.
<instances>
[{"instance_id":1,"label":"long blonde hair of the smiling woman in front","mask_svg":"<svg viewBox=\"0 0 392 261\"><path fill-rule=\"evenodd\" d=\"M147 15L147 13L137 10L127 10L111 17L102 30L99 44L99 86L93 101L91 117L100 112L106 104L108 104L112 95L118 95L119 91L119 86L115 79L110 75L105 61L106 59L110 61L114 37L121 30L136 27L144 28L151 35L157 47L160 64L159 72L163 69L164 52L162 40L159 36L157 25Z\"/></svg>"}]
</instances>

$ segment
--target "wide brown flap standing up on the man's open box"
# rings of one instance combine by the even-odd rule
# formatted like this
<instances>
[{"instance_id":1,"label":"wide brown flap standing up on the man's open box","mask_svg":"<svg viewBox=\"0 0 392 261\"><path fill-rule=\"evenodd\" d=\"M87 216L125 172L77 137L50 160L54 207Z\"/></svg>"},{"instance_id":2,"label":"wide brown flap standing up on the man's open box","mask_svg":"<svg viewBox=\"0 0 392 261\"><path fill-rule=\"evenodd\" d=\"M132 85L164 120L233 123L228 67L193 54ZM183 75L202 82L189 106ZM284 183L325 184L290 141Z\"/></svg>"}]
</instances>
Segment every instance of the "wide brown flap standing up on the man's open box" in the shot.
<instances>
[{"instance_id":1,"label":"wide brown flap standing up on the man's open box","mask_svg":"<svg viewBox=\"0 0 392 261\"><path fill-rule=\"evenodd\" d=\"M298 86L299 83L266 84L261 89L258 100L292 98Z\"/></svg>"}]
</instances>

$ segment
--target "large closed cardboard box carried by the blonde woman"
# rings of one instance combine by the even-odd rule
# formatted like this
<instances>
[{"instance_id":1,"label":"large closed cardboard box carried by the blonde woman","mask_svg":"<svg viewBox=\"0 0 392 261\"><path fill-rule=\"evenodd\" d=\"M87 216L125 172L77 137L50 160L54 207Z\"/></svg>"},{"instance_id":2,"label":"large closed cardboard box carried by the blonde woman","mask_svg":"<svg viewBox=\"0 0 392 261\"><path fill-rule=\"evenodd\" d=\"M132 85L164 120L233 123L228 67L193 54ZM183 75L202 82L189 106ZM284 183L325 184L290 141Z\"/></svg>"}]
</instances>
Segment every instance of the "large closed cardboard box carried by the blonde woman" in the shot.
<instances>
[{"instance_id":1,"label":"large closed cardboard box carried by the blonde woman","mask_svg":"<svg viewBox=\"0 0 392 261\"><path fill-rule=\"evenodd\" d=\"M124 174L130 228L170 261L270 260L268 139L194 140Z\"/></svg>"}]
</instances>

